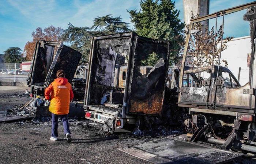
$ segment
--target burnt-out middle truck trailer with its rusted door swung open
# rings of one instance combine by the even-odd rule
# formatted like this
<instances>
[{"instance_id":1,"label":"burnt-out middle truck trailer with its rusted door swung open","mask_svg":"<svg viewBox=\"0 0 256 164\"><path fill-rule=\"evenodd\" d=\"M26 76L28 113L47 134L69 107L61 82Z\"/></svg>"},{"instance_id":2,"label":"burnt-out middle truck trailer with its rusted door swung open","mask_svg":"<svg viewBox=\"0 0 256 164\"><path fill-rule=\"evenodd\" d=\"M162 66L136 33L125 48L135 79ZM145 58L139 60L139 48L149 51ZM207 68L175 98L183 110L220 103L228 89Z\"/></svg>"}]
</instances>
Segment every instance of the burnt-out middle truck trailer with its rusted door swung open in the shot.
<instances>
[{"instance_id":1,"label":"burnt-out middle truck trailer with its rusted door swung open","mask_svg":"<svg viewBox=\"0 0 256 164\"><path fill-rule=\"evenodd\" d=\"M142 66L156 54L154 66ZM166 89L169 42L135 32L92 38L86 81L86 118L114 127L135 124L139 115L161 117Z\"/></svg>"}]
</instances>

